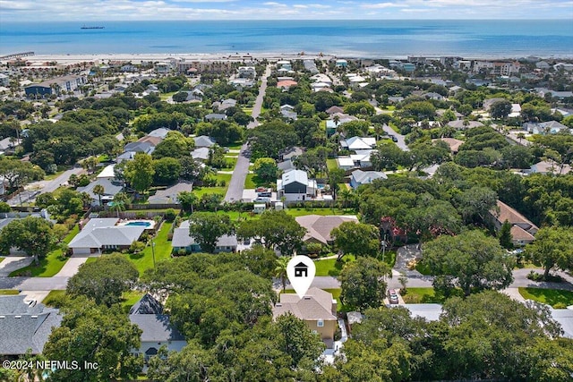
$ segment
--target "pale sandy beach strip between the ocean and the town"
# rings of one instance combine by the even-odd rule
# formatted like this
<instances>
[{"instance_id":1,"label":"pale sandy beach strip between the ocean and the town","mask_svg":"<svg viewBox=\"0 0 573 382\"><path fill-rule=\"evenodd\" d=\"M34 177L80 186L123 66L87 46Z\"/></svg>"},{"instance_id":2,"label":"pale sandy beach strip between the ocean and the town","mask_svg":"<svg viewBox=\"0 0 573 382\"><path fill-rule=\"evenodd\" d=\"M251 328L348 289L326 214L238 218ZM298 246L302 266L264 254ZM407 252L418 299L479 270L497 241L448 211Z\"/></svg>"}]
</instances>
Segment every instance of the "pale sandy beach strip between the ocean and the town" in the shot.
<instances>
[{"instance_id":1,"label":"pale sandy beach strip between the ocean and the town","mask_svg":"<svg viewBox=\"0 0 573 382\"><path fill-rule=\"evenodd\" d=\"M15 55L13 53L12 55ZM476 56L466 56L466 55L420 55L412 54L410 56L416 57L426 57L426 58L439 58L443 56L461 56L465 60L518 60L520 58L526 57L538 57L540 59L552 59L552 60L570 60L573 59L573 55L563 55L563 56L543 56L543 55L521 55L516 56L503 56L503 55L476 55ZM167 61L167 60L185 60L185 61L246 61L248 59L252 60L263 60L267 59L269 61L275 60L329 60L334 58L346 58L346 59L364 59L364 60L376 60L376 59L389 59L389 60L406 60L408 55L357 55L351 54L350 52L341 52L340 54L334 53L278 53L278 52L257 52L257 53L109 53L109 54L39 54L39 55L29 55L21 57L22 61L34 62L49 62L56 61L58 64L74 64L82 62L105 62L105 61L131 61L133 63L141 63L144 61ZM3 60L11 61L11 60ZM1 62L1 61L0 61Z\"/></svg>"}]
</instances>

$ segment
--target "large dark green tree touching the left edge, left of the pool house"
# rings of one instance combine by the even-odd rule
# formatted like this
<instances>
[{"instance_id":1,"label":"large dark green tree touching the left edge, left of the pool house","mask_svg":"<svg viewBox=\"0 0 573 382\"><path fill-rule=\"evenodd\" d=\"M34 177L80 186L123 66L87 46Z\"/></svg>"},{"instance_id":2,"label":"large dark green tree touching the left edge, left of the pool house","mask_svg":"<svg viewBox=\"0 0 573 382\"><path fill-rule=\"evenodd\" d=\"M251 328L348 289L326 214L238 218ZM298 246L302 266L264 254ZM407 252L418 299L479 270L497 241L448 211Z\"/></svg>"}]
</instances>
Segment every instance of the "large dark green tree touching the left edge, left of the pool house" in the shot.
<instances>
[{"instance_id":1,"label":"large dark green tree touching the left edge, left of the pool house","mask_svg":"<svg viewBox=\"0 0 573 382\"><path fill-rule=\"evenodd\" d=\"M13 220L0 232L0 248L3 253L9 253L13 247L22 250L38 265L39 259L45 258L56 245L52 226L48 220L37 216Z\"/></svg>"}]
</instances>

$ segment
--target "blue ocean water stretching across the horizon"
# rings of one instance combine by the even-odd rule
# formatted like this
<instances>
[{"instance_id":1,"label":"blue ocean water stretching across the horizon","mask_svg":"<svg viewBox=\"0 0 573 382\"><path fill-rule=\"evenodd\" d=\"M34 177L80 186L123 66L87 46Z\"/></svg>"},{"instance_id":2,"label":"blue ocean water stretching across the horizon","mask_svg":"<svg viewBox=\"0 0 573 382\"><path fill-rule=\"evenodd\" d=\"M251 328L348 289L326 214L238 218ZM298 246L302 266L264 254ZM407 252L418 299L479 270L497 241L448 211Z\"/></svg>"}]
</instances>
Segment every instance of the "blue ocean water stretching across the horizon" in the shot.
<instances>
[{"instance_id":1,"label":"blue ocean water stretching across the horizon","mask_svg":"<svg viewBox=\"0 0 573 382\"><path fill-rule=\"evenodd\" d=\"M363 57L573 56L573 21L2 22L0 55L323 52Z\"/></svg>"}]
</instances>

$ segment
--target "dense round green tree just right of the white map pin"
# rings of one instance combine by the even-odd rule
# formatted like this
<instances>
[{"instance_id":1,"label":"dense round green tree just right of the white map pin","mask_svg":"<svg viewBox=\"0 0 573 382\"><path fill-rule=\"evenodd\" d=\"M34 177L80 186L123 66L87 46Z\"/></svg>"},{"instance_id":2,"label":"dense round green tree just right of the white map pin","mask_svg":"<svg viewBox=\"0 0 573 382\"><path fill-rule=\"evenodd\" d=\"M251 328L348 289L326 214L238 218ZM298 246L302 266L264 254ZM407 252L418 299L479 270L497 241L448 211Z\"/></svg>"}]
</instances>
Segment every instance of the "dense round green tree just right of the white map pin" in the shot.
<instances>
[{"instance_id":1,"label":"dense round green tree just right of the white map pin","mask_svg":"<svg viewBox=\"0 0 573 382\"><path fill-rule=\"evenodd\" d=\"M378 259L358 258L347 263L340 273L340 300L352 310L378 308L384 303L388 265Z\"/></svg>"}]
</instances>

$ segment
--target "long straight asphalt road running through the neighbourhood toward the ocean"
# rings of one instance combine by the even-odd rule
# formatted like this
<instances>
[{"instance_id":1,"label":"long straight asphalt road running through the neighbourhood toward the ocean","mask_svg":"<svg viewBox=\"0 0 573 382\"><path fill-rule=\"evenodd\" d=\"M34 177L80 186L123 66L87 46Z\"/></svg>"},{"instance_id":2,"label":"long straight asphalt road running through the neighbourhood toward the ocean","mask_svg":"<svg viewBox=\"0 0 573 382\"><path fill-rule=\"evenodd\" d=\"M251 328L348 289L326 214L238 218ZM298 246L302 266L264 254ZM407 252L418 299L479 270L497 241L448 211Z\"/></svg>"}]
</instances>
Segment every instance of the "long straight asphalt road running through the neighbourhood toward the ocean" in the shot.
<instances>
[{"instance_id":1,"label":"long straight asphalt road running through the neighbourhood toward the ocean","mask_svg":"<svg viewBox=\"0 0 573 382\"><path fill-rule=\"evenodd\" d=\"M252 106L252 118L254 121L247 125L247 129L254 129L259 125L257 122L257 117L261 115L262 99L265 96L267 90L267 77L270 75L270 65L267 66L265 73L262 76L261 87L259 88L259 95L254 101ZM225 201L233 202L236 200L243 199L244 181L249 174L249 162L251 155L247 150L247 144L245 143L241 146L241 151L239 151L239 158L236 161L235 169L233 170L233 175L231 176L231 181L229 182L229 188L227 189L227 195L225 195Z\"/></svg>"}]
</instances>

